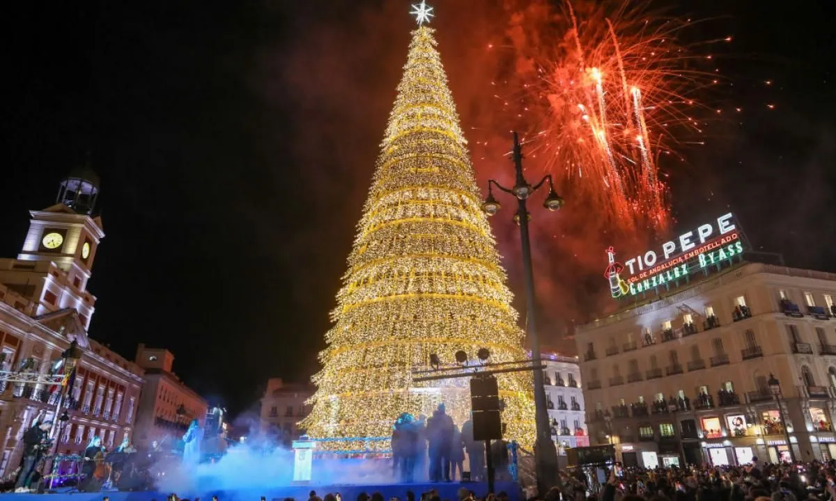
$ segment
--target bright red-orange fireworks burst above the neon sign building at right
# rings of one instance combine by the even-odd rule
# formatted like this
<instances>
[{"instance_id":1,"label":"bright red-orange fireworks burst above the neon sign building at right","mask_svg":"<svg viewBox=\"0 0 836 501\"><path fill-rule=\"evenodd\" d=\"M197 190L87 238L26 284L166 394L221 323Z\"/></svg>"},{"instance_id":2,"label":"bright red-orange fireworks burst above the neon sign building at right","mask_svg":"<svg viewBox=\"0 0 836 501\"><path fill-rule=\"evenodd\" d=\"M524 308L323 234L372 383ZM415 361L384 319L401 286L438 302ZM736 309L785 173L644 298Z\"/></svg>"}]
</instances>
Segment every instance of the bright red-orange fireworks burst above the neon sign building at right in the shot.
<instances>
[{"instance_id":1,"label":"bright red-orange fireworks burst above the neon sign building at right","mask_svg":"<svg viewBox=\"0 0 836 501\"><path fill-rule=\"evenodd\" d=\"M701 143L685 138L702 133L693 94L716 82L711 55L678 42L691 20L653 13L646 2L562 5L514 11L507 43L491 50L512 54L500 87L522 94L496 97L528 130L529 158L571 183L575 196L625 229L664 230L660 156Z\"/></svg>"}]
</instances>

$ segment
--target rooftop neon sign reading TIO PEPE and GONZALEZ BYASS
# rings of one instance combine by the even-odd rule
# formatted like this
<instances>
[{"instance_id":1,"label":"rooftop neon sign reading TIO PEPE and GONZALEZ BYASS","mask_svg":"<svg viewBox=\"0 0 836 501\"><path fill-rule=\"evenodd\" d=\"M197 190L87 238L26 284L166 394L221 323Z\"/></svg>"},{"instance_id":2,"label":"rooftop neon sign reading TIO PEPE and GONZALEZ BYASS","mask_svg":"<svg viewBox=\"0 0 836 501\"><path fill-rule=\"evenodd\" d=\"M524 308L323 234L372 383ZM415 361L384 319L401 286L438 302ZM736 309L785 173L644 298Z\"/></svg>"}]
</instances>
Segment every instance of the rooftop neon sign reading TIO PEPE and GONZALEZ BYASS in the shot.
<instances>
[{"instance_id":1,"label":"rooftop neon sign reading TIO PEPE and GONZALEZ BYASS","mask_svg":"<svg viewBox=\"0 0 836 501\"><path fill-rule=\"evenodd\" d=\"M612 296L619 297L633 296L678 281L695 271L720 265L741 255L743 244L730 212L718 217L716 224L712 221L665 242L658 252L650 250L625 261L626 267L614 261L612 247L606 252L609 265L604 277L609 281Z\"/></svg>"}]
</instances>

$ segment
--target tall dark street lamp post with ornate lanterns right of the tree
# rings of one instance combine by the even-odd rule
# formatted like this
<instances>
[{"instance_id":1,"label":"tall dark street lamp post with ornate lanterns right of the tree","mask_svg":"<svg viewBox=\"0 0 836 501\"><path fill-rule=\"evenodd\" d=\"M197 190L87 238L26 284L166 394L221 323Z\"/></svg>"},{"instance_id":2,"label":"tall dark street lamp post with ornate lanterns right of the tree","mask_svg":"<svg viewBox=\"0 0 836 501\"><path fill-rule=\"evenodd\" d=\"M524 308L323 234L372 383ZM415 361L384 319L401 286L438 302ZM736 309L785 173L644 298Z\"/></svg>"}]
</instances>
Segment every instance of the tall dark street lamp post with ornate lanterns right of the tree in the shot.
<instances>
[{"instance_id":1,"label":"tall dark street lamp post with ornate lanterns right of the tree","mask_svg":"<svg viewBox=\"0 0 836 501\"><path fill-rule=\"evenodd\" d=\"M526 336L531 344L532 360L539 361L540 343L538 342L537 311L534 298L534 276L531 262L531 242L528 235L528 197L542 187L548 181L548 196L543 206L548 210L559 210L563 206L563 199L555 193L552 176L546 175L536 185L529 185L523 176L523 147L520 145L517 133L514 134L514 149L512 159L516 180L512 189L505 188L496 180L487 182L487 199L482 204L482 210L487 215L494 215L500 208L499 203L493 198L492 187L517 197L517 214L514 220L520 227L520 241L523 248L523 277L525 279L526 292ZM537 423L537 439L534 442L534 461L536 463L537 482L540 493L545 493L548 488L555 485L558 480L558 452L554 446L551 430L548 426L548 412L546 410L546 390L543 387L543 371L534 369L534 407L535 420Z\"/></svg>"}]
</instances>

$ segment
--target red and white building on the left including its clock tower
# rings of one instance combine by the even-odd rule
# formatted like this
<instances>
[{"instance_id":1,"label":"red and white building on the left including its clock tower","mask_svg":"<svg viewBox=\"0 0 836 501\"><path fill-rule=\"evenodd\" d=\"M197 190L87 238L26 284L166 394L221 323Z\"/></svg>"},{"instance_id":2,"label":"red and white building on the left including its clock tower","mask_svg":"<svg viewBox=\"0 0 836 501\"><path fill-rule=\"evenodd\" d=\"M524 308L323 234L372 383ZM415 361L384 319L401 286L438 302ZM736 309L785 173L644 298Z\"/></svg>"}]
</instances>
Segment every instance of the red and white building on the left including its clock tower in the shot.
<instances>
[{"instance_id":1,"label":"red and white building on the left including its clock tower","mask_svg":"<svg viewBox=\"0 0 836 501\"><path fill-rule=\"evenodd\" d=\"M40 412L56 421L60 452L80 451L95 435L118 445L133 433L143 371L87 336L96 300L87 282L104 238L92 215L98 192L89 170L70 175L55 205L30 211L18 257L0 259L0 474L17 467L20 440ZM73 341L83 354L58 415L60 385L9 382L56 371Z\"/></svg>"}]
</instances>

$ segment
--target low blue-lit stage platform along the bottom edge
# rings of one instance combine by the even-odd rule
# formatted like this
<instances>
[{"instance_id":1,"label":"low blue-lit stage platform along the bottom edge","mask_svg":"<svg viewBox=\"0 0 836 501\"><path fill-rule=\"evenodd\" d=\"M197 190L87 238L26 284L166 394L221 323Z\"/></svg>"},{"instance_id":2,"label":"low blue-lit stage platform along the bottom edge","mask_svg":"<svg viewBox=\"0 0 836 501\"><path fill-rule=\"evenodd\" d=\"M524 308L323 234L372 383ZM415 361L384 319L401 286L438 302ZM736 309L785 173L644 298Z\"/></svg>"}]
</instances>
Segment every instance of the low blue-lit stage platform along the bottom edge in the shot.
<instances>
[{"instance_id":1,"label":"low blue-lit stage platform along the bottom edge","mask_svg":"<svg viewBox=\"0 0 836 501\"><path fill-rule=\"evenodd\" d=\"M416 501L420 501L421 493L436 489L442 500L457 501L456 491L465 487L477 493L477 496L484 497L487 493L486 483L475 482L450 482L450 483L403 483L388 485L288 485L280 488L268 489L237 489L234 491L212 491L207 490L201 493L177 493L181 498L201 498L201 501L212 501L212 496L217 495L218 501L259 501L262 496L268 501L283 501L284 498L293 498L295 501L307 501L308 493L312 490L322 498L327 493L340 493L343 501L354 501L359 493L379 492L383 494L385 501L391 498L406 500L406 491L415 493ZM63 489L62 489L63 490ZM495 491L505 491L511 501L525 501L519 491L517 483L498 482ZM160 493L153 491L123 493L118 491L103 491L100 493L48 493L48 494L0 494L0 501L102 501L107 496L110 501L166 501L171 493Z\"/></svg>"}]
</instances>

